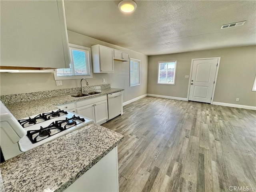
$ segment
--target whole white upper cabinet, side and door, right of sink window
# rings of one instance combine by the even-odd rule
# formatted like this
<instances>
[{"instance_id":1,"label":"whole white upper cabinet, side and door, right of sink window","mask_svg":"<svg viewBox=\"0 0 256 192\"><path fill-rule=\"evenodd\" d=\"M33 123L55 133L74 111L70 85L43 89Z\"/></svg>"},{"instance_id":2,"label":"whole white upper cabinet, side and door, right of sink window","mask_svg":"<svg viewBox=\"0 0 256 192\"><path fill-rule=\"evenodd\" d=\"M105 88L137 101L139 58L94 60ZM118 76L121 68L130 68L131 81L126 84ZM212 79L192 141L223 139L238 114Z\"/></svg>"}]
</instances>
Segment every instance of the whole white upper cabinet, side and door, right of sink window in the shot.
<instances>
[{"instance_id":1,"label":"whole white upper cabinet, side and door, right of sink window","mask_svg":"<svg viewBox=\"0 0 256 192\"><path fill-rule=\"evenodd\" d=\"M93 45L92 66L94 73L113 73L114 72L114 51L112 48Z\"/></svg>"}]
</instances>

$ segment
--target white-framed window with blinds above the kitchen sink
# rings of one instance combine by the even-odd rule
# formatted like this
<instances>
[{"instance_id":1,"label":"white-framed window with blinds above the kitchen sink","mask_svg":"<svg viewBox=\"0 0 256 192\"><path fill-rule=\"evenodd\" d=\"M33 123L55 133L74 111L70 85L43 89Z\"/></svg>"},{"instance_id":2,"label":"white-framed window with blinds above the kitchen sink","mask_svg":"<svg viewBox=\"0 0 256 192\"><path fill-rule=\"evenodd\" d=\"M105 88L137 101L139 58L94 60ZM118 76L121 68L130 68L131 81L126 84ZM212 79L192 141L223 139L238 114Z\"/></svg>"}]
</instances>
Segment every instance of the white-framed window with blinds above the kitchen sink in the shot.
<instances>
[{"instance_id":1,"label":"white-framed window with blinds above the kitchen sink","mask_svg":"<svg viewBox=\"0 0 256 192\"><path fill-rule=\"evenodd\" d=\"M91 48L69 44L70 68L56 69L55 80L92 78Z\"/></svg>"}]
</instances>

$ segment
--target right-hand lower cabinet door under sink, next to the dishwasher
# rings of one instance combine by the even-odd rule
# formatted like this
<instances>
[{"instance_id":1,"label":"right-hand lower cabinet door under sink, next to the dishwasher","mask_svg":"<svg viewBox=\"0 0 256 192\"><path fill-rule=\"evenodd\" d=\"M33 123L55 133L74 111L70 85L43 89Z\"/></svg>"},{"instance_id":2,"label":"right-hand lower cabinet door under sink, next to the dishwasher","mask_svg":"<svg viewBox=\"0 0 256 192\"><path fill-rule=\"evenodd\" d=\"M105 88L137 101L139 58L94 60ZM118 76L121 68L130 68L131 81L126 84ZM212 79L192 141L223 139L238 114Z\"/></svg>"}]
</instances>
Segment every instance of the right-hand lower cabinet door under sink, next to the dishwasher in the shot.
<instances>
[{"instance_id":1,"label":"right-hand lower cabinet door under sink, next to the dishwasher","mask_svg":"<svg viewBox=\"0 0 256 192\"><path fill-rule=\"evenodd\" d=\"M100 101L94 104L95 123L108 119L108 102L107 100Z\"/></svg>"}]
</instances>

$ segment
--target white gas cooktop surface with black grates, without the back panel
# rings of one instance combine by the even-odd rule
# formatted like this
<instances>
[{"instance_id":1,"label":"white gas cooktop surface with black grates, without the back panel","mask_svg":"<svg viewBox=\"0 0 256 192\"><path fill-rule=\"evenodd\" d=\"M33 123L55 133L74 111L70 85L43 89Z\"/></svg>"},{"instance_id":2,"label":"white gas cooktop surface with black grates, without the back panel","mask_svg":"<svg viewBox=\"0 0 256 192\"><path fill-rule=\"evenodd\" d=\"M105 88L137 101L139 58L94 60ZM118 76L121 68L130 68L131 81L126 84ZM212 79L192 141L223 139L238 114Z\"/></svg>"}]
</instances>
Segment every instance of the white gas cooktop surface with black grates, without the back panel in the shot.
<instances>
[{"instance_id":1,"label":"white gas cooktop surface with black grates, without the back panel","mask_svg":"<svg viewBox=\"0 0 256 192\"><path fill-rule=\"evenodd\" d=\"M26 152L94 121L59 109L19 119L18 122L26 131L18 142L19 148Z\"/></svg>"}]
</instances>

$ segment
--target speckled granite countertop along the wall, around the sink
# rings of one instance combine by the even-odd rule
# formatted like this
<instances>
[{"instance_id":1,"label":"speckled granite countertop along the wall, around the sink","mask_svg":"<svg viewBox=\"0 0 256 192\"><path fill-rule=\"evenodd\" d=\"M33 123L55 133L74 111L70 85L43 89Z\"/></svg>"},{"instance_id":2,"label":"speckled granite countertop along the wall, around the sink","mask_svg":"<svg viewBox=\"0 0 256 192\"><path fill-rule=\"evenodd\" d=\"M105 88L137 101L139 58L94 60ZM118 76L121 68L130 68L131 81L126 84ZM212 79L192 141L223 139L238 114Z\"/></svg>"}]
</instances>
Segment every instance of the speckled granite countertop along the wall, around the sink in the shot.
<instances>
[{"instance_id":1,"label":"speckled granite countertop along the wall, around the sink","mask_svg":"<svg viewBox=\"0 0 256 192\"><path fill-rule=\"evenodd\" d=\"M90 95L90 96L76 98L70 95L61 95L61 96L55 96L55 97L49 97L49 98L42 98L38 100L5 104L5 106L10 110L10 112L14 115L16 119L21 119L21 118L26 118L32 115L57 109L56 105L94 98L97 96L103 96L106 94L111 94L111 93L119 92L122 90L124 89L106 88L106 89L96 90L101 93Z\"/></svg>"}]
</instances>

